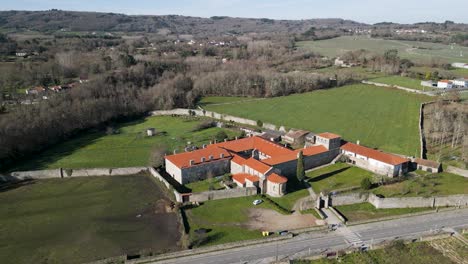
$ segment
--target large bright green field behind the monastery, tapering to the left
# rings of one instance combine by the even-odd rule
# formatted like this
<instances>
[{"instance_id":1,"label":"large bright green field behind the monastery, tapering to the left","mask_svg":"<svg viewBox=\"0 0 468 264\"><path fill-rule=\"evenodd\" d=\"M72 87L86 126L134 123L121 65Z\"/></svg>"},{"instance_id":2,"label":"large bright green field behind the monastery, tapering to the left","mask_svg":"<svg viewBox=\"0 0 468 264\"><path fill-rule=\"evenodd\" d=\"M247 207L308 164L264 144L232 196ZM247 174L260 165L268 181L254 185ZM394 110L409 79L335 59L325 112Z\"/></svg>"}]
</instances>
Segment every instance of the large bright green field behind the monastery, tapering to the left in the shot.
<instances>
[{"instance_id":1,"label":"large bright green field behind the monastery, tapering to the left","mask_svg":"<svg viewBox=\"0 0 468 264\"><path fill-rule=\"evenodd\" d=\"M419 107L429 100L423 95L359 84L206 108L317 133L334 132L369 147L418 156Z\"/></svg>"}]
</instances>

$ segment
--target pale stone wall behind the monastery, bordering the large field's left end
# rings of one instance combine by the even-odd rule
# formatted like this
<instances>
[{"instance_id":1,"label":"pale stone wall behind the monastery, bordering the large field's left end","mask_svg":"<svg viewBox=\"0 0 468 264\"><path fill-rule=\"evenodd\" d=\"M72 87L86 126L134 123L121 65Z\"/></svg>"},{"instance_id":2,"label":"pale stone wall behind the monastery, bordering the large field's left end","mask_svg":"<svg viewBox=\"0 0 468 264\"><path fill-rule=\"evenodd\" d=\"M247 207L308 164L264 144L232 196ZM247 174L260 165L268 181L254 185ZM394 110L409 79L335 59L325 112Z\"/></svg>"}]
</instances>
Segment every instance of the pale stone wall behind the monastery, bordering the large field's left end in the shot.
<instances>
[{"instance_id":1,"label":"pale stone wall behind the monastery, bordering the large field's left end","mask_svg":"<svg viewBox=\"0 0 468 264\"><path fill-rule=\"evenodd\" d=\"M152 111L150 114L152 116L165 116L165 115L189 115L189 110L191 110L193 113L195 113L195 116L202 116L202 117L210 117L214 119L219 119L227 122L234 122L238 124L244 124L244 125L249 125L249 126L257 126L257 121L247 119L247 118L242 118L242 117L237 117L237 116L231 116L231 115L226 115L226 114L220 114L212 111L207 111L207 110L200 110L200 109L185 109L185 108L176 108L172 110L156 110ZM263 123L263 128L265 129L271 129L271 130L277 130L278 127L274 124L270 123Z\"/></svg>"}]
</instances>

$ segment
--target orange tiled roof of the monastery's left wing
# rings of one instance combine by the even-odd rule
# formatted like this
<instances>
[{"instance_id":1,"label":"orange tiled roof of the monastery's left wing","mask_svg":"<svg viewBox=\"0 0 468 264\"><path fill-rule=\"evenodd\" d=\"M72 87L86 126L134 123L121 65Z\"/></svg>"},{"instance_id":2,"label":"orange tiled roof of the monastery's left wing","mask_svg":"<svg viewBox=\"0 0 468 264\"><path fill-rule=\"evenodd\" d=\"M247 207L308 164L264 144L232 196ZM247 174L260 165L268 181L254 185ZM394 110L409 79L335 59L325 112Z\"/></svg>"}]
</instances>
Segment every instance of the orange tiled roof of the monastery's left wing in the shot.
<instances>
[{"instance_id":1,"label":"orange tiled roof of the monastery's left wing","mask_svg":"<svg viewBox=\"0 0 468 264\"><path fill-rule=\"evenodd\" d=\"M224 155L223 158L221 158L221 154ZM199 165L200 163L202 163L201 162L202 157L205 158L205 162L209 162L210 155L213 156L213 160L220 160L220 159L226 159L226 158L231 157L231 154L227 150L213 147L213 145L211 145L204 149L198 149L195 151L169 155L169 156L166 156L166 159L172 162L174 165L176 165L179 168L187 168L187 167L191 167L190 160L194 161L194 165Z\"/></svg>"}]
</instances>

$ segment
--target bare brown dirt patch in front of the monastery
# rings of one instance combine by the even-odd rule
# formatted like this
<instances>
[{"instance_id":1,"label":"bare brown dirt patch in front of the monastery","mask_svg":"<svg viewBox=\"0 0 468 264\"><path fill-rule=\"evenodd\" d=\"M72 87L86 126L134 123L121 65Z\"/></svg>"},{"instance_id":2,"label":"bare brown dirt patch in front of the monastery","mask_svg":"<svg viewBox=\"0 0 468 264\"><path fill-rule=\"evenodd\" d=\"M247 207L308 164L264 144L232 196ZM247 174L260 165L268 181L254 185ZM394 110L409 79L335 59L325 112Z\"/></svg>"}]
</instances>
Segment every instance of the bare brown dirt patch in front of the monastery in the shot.
<instances>
[{"instance_id":1,"label":"bare brown dirt patch in front of the monastery","mask_svg":"<svg viewBox=\"0 0 468 264\"><path fill-rule=\"evenodd\" d=\"M316 225L315 217L311 214L300 213L282 215L271 209L252 208L249 209L248 229L279 231L313 227Z\"/></svg>"}]
</instances>

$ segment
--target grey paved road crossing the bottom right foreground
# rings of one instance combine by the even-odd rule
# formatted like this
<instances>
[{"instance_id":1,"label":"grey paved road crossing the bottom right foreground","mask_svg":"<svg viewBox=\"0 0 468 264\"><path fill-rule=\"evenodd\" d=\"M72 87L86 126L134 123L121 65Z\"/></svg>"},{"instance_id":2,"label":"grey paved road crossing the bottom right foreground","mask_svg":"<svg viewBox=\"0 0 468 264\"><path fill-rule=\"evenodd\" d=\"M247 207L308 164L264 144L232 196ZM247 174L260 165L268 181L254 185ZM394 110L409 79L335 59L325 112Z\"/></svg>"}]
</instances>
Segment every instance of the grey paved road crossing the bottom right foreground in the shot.
<instances>
[{"instance_id":1,"label":"grey paved road crossing the bottom right foreground","mask_svg":"<svg viewBox=\"0 0 468 264\"><path fill-rule=\"evenodd\" d=\"M293 239L259 244L191 257L154 263L269 263L273 260L297 258L314 253L353 247L353 244L370 244L395 238L418 238L434 234L442 228L468 227L468 209L433 213L411 218L347 227L328 233L301 234ZM350 232L351 231L351 235ZM278 257L276 257L278 256Z\"/></svg>"}]
</instances>

